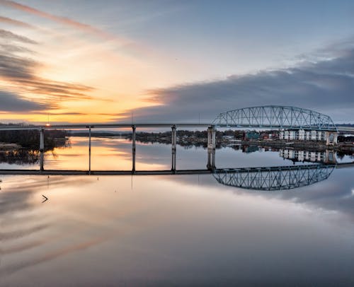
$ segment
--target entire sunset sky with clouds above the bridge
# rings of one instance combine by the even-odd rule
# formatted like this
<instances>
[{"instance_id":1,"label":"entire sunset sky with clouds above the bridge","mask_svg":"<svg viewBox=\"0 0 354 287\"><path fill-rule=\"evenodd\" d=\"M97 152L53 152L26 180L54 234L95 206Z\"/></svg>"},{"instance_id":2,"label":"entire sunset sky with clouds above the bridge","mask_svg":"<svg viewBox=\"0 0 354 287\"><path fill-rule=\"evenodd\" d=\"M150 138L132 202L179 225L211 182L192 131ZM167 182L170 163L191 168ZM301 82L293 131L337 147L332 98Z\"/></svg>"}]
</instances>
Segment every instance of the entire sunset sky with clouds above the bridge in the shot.
<instances>
[{"instance_id":1,"label":"entire sunset sky with clouds above the bridge","mask_svg":"<svg viewBox=\"0 0 354 287\"><path fill-rule=\"evenodd\" d=\"M354 1L0 0L0 122L354 123Z\"/></svg>"}]
</instances>

